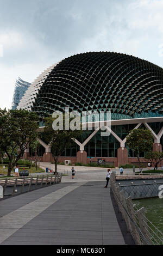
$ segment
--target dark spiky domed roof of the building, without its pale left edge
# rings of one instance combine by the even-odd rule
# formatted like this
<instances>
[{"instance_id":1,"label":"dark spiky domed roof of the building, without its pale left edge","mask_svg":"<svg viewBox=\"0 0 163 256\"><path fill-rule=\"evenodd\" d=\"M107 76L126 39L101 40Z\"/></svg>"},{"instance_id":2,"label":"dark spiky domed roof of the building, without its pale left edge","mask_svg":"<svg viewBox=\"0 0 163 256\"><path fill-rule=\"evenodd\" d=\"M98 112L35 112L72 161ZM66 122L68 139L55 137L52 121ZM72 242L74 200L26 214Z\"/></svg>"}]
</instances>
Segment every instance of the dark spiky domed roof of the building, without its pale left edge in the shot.
<instances>
[{"instance_id":1,"label":"dark spiky domed roof of the building, without its pale left edge","mask_svg":"<svg viewBox=\"0 0 163 256\"><path fill-rule=\"evenodd\" d=\"M54 66L32 111L111 111L111 119L162 116L163 69L114 52L81 53Z\"/></svg>"}]
</instances>

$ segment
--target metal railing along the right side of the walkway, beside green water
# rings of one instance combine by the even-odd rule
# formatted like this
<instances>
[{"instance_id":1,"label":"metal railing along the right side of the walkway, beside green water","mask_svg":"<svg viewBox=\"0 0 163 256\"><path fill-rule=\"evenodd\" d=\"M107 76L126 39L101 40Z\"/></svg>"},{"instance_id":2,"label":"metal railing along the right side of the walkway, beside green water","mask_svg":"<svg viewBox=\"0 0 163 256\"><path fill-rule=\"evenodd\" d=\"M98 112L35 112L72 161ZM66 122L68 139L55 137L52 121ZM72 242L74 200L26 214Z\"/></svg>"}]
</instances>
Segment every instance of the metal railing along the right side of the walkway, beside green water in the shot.
<instances>
[{"instance_id":1,"label":"metal railing along the right side of the walkway, beside green water","mask_svg":"<svg viewBox=\"0 0 163 256\"><path fill-rule=\"evenodd\" d=\"M126 198L124 191L116 184L116 175L110 176L110 186L127 231L131 233L136 245L163 245L163 234L148 220L145 209L136 209L131 197Z\"/></svg>"}]
</instances>

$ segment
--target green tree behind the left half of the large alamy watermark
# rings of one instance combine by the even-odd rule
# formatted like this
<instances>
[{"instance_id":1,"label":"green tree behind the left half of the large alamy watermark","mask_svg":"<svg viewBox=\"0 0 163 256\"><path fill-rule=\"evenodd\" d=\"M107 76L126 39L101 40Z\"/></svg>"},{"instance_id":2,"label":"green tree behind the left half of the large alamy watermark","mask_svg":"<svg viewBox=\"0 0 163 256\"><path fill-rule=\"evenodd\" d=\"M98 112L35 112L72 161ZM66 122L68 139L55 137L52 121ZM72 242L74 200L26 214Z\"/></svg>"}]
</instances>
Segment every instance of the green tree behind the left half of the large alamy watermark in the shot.
<instances>
[{"instance_id":1,"label":"green tree behind the left half of the large alamy watermark","mask_svg":"<svg viewBox=\"0 0 163 256\"><path fill-rule=\"evenodd\" d=\"M57 173L58 159L65 149L70 148L71 142L79 137L82 133L81 130L66 130L65 129L65 117L62 119L62 130L53 129L53 121L57 118L48 117L45 118L45 136L48 139L49 145L51 145L51 153L54 157L55 173ZM71 121L72 119L70 119Z\"/></svg>"}]
</instances>

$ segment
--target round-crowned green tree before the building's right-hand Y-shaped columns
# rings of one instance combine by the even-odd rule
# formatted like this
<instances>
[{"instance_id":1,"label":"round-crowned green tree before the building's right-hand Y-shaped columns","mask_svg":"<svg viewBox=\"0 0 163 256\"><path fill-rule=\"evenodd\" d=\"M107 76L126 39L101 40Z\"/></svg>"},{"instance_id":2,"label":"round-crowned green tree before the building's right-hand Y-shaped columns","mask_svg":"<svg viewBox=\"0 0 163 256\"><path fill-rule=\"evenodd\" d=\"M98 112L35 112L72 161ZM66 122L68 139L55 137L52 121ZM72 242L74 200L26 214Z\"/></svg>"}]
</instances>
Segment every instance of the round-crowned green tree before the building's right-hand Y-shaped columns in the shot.
<instances>
[{"instance_id":1,"label":"round-crowned green tree before the building's right-hand Y-shaped columns","mask_svg":"<svg viewBox=\"0 0 163 256\"><path fill-rule=\"evenodd\" d=\"M146 129L134 129L131 130L127 136L126 144L129 149L133 149L135 155L139 161L140 166L140 154L143 152L151 151L153 145L152 132Z\"/></svg>"}]
</instances>

